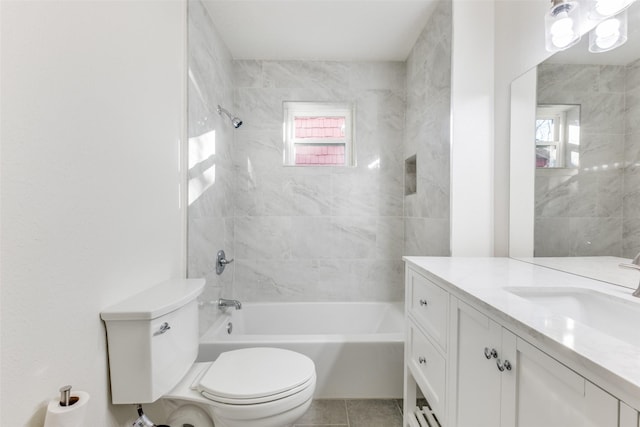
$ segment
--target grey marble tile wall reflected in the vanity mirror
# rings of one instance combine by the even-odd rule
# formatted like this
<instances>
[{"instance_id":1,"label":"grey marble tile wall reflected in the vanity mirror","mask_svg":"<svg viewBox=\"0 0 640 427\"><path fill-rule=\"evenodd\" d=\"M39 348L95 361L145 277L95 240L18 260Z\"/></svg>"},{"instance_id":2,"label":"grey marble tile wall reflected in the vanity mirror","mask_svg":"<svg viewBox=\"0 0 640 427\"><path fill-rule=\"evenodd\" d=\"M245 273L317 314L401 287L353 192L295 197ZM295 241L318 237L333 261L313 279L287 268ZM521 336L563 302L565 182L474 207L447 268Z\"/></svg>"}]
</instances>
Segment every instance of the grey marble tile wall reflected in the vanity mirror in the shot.
<instances>
[{"instance_id":1,"label":"grey marble tile wall reflected in the vanity mirror","mask_svg":"<svg viewBox=\"0 0 640 427\"><path fill-rule=\"evenodd\" d=\"M580 168L536 171L536 256L640 249L640 67L543 64L539 104L579 104ZM634 119L635 117L635 119Z\"/></svg>"}]
</instances>

